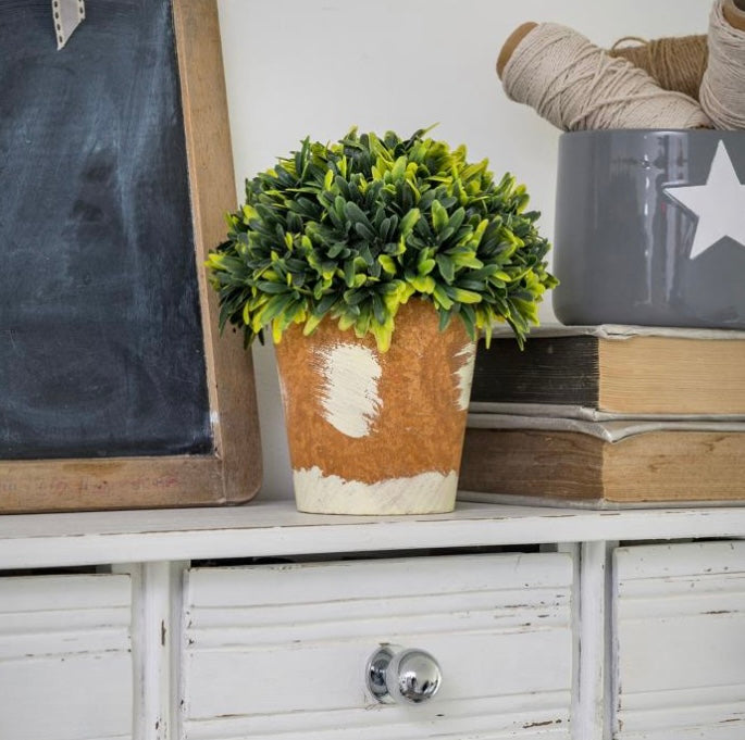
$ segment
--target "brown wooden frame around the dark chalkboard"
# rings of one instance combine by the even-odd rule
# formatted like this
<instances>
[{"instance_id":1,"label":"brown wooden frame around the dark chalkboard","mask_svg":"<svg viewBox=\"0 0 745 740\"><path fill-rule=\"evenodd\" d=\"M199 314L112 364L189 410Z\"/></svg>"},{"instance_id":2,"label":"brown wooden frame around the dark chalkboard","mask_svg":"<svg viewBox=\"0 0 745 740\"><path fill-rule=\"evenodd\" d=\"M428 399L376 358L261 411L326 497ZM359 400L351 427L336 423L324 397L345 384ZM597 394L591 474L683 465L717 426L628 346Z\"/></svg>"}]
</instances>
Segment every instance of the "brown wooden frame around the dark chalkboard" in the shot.
<instances>
[{"instance_id":1,"label":"brown wooden frame around the dark chalkboard","mask_svg":"<svg viewBox=\"0 0 745 740\"><path fill-rule=\"evenodd\" d=\"M221 337L203 262L235 209L215 0L172 0L199 281L213 451L199 455L0 461L0 513L243 503L261 484L250 352Z\"/></svg>"}]
</instances>

